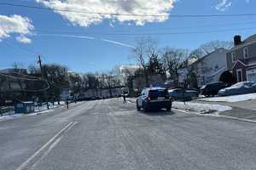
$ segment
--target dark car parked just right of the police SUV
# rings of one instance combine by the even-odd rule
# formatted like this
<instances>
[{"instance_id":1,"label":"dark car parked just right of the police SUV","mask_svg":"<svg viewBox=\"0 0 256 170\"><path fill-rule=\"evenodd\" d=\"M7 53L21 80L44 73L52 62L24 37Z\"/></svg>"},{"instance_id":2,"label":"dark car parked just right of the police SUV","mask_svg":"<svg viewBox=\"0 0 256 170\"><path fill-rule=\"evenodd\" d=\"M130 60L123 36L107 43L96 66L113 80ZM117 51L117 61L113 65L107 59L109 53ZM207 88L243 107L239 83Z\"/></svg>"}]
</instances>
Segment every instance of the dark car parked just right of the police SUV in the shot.
<instances>
[{"instance_id":1,"label":"dark car parked just right of the police SUV","mask_svg":"<svg viewBox=\"0 0 256 170\"><path fill-rule=\"evenodd\" d=\"M174 100L191 100L197 98L199 95L198 91L188 90L185 88L174 88L168 91Z\"/></svg>"}]
</instances>

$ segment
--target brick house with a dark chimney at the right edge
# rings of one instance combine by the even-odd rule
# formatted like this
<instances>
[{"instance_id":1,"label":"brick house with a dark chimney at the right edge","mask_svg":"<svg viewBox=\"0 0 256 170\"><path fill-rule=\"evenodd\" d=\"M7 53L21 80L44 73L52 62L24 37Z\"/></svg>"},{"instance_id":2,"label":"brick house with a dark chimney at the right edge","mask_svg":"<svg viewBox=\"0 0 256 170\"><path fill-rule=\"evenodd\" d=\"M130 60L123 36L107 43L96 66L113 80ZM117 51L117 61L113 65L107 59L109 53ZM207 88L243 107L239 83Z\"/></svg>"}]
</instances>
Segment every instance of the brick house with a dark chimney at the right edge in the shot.
<instances>
[{"instance_id":1,"label":"brick house with a dark chimney at the right edge","mask_svg":"<svg viewBox=\"0 0 256 170\"><path fill-rule=\"evenodd\" d=\"M234 37L234 47L227 53L228 70L236 82L256 82L256 34L241 41L241 36Z\"/></svg>"}]
</instances>

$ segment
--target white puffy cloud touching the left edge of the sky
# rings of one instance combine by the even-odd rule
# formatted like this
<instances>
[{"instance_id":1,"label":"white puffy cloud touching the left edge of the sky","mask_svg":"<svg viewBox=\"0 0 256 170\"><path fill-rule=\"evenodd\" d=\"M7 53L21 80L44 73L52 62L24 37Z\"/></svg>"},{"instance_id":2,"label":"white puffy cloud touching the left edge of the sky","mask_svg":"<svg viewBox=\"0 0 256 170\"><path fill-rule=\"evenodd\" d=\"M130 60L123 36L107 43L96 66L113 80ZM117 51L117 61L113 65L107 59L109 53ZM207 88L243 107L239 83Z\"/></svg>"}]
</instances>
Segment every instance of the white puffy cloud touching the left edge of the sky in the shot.
<instances>
[{"instance_id":1,"label":"white puffy cloud touching the left edge of the sky","mask_svg":"<svg viewBox=\"0 0 256 170\"><path fill-rule=\"evenodd\" d=\"M10 37L11 34L18 34L16 40L29 43L31 39L26 36L32 35L32 21L20 15L6 16L0 14L0 40Z\"/></svg>"}]
</instances>

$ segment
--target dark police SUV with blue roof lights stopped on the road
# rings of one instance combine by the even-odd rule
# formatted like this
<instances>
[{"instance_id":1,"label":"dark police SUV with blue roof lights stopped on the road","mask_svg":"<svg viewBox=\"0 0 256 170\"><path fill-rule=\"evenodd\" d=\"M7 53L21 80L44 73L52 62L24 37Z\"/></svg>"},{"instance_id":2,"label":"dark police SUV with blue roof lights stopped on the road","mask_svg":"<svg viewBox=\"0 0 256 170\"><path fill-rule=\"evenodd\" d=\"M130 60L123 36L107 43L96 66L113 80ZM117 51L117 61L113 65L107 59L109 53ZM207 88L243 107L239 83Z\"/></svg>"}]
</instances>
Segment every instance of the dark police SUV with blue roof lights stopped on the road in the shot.
<instances>
[{"instance_id":1,"label":"dark police SUV with blue roof lights stopped on the road","mask_svg":"<svg viewBox=\"0 0 256 170\"><path fill-rule=\"evenodd\" d=\"M137 98L137 111L148 111L150 109L162 109L171 111L172 98L166 88L144 88Z\"/></svg>"}]
</instances>

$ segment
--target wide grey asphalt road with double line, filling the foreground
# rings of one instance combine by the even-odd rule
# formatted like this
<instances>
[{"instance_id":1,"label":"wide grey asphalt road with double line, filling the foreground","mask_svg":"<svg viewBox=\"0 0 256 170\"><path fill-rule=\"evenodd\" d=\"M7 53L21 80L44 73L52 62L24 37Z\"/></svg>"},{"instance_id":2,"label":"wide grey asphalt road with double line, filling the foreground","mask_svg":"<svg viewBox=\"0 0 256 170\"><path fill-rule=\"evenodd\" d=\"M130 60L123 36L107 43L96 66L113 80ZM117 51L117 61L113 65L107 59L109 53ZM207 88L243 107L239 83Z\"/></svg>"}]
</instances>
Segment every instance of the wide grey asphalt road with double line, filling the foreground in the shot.
<instances>
[{"instance_id":1,"label":"wide grey asphalt road with double line, filling the foreground","mask_svg":"<svg viewBox=\"0 0 256 170\"><path fill-rule=\"evenodd\" d=\"M120 99L0 122L0 169L256 169L256 124Z\"/></svg>"}]
</instances>

